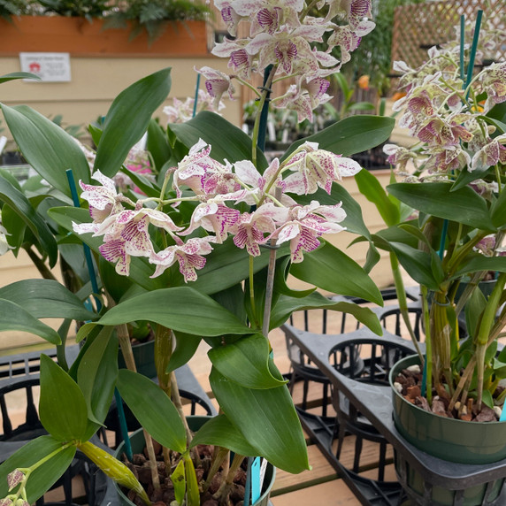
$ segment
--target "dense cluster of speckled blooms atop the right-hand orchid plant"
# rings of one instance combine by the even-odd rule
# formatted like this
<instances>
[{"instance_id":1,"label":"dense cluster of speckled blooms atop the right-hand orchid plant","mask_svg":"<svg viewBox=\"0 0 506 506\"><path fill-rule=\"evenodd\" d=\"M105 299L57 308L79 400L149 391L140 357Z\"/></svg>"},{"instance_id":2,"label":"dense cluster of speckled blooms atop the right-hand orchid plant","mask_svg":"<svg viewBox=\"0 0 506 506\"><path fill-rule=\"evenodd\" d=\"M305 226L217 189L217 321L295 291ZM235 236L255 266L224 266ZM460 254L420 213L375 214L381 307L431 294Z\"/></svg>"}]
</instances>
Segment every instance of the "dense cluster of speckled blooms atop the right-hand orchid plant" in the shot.
<instances>
[{"instance_id":1,"label":"dense cluster of speckled blooms atop the right-hand orchid plant","mask_svg":"<svg viewBox=\"0 0 506 506\"><path fill-rule=\"evenodd\" d=\"M484 50L494 50L501 40L506 41L506 35L482 30L480 40ZM464 168L472 172L506 164L506 134L495 135L496 127L483 116L496 103L506 101L506 62L485 66L466 83L458 43L433 47L428 56L417 69L404 62L394 63L394 69L403 74L400 86L406 96L395 102L393 110L404 111L400 126L408 127L418 142L411 149L388 144L388 162L401 172L413 163L424 171L422 180L444 180ZM477 59L481 58L479 51ZM420 180L415 176L409 179ZM485 186L481 181L475 183Z\"/></svg>"}]
</instances>

